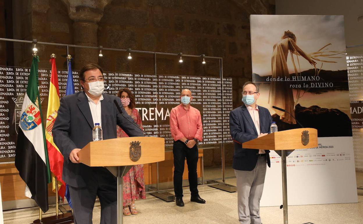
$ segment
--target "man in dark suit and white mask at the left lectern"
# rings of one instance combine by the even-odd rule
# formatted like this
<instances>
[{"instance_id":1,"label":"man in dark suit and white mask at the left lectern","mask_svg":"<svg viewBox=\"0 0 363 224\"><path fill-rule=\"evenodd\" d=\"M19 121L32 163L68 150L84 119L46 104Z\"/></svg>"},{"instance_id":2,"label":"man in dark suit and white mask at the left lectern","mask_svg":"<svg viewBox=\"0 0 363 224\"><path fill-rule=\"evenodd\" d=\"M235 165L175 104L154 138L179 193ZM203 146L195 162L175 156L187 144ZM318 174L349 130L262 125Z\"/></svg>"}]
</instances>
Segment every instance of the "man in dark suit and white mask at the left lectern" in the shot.
<instances>
[{"instance_id":1,"label":"man in dark suit and white mask at the left lectern","mask_svg":"<svg viewBox=\"0 0 363 224\"><path fill-rule=\"evenodd\" d=\"M117 100L125 113L120 98L102 94L102 68L87 64L79 72L84 91L61 98L58 116L52 133L54 143L64 156L63 179L69 185L74 211L74 223L92 223L96 196L101 204L101 224L117 223L117 179L104 167L89 167L78 162L77 152L93 140L95 123L102 127L103 139L116 138L116 125L127 135L144 136L142 131L127 121L114 104Z\"/></svg>"}]
</instances>

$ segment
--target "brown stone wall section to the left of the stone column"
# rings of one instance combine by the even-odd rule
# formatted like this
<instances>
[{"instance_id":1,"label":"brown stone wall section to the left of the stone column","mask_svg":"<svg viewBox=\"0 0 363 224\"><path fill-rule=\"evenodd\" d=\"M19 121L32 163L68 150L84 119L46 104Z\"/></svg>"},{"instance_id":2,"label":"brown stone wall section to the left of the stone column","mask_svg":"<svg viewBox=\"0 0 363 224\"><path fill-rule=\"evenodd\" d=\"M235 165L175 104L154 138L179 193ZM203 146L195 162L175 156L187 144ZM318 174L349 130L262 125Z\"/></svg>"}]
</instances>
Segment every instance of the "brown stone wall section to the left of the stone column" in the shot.
<instances>
[{"instance_id":1,"label":"brown stone wall section to the left of the stone column","mask_svg":"<svg viewBox=\"0 0 363 224\"><path fill-rule=\"evenodd\" d=\"M72 20L67 7L61 1L50 0L13 0L13 38L54 42L73 43ZM40 56L40 68L49 67L50 54L55 53L59 59L65 56L65 47L37 45ZM14 44L14 65L30 66L31 44ZM65 57L64 57L65 58ZM66 60L57 61L63 67Z\"/></svg>"}]
</instances>

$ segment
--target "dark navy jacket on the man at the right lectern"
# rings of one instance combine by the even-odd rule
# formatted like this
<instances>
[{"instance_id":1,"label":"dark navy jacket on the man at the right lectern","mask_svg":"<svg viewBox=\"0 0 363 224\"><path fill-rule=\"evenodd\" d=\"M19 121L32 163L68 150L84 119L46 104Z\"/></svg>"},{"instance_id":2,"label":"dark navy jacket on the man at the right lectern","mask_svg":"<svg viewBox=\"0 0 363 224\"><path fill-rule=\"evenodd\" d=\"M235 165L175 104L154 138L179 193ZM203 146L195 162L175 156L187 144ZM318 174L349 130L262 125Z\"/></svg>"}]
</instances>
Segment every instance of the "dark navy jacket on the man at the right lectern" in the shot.
<instances>
[{"instance_id":1,"label":"dark navy jacket on the man at the right lectern","mask_svg":"<svg viewBox=\"0 0 363 224\"><path fill-rule=\"evenodd\" d=\"M265 107L258 106L258 115L260 117L261 133L270 133L272 117ZM251 171L256 167L258 159L258 149L242 148L243 144L249 140L257 138L256 127L252 121L251 115L245 105L237 107L229 114L229 129L234 141L234 155L232 167L235 170ZM263 149L263 148L261 148ZM266 162L270 167L269 150L266 151Z\"/></svg>"}]
</instances>

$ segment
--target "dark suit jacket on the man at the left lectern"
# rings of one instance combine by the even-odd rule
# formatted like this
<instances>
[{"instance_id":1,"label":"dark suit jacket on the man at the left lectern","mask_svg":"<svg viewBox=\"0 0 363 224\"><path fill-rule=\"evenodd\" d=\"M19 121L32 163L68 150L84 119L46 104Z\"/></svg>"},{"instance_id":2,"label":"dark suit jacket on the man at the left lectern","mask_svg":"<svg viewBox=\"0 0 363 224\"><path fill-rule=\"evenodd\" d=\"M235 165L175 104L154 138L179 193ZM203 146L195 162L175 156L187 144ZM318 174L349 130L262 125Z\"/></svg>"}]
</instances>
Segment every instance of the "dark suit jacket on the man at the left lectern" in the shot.
<instances>
[{"instance_id":1,"label":"dark suit jacket on the man at the left lectern","mask_svg":"<svg viewBox=\"0 0 363 224\"><path fill-rule=\"evenodd\" d=\"M116 125L120 126L130 137L144 136L142 131L127 121L118 112L114 99L118 101L125 117L133 121L126 113L119 97L102 94L101 120L103 139L117 138ZM92 141L94 127L91 109L84 91L61 98L57 119L52 133L54 143L64 156L63 180L72 187L86 187L92 168L82 163L72 163L70 152L83 148Z\"/></svg>"}]
</instances>

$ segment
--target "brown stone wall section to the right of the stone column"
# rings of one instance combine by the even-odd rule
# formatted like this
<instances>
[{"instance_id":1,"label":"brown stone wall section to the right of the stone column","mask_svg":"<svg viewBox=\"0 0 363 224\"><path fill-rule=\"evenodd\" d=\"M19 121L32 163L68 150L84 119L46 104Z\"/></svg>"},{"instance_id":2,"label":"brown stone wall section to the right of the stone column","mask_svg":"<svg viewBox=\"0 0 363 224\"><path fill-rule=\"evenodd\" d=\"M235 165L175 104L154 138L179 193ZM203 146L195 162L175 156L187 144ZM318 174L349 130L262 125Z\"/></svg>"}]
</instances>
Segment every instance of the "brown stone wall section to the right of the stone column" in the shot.
<instances>
[{"instance_id":1,"label":"brown stone wall section to the right of the stone column","mask_svg":"<svg viewBox=\"0 0 363 224\"><path fill-rule=\"evenodd\" d=\"M223 76L233 77L233 102L237 107L241 105L237 97L241 95L240 86L252 78L249 15L274 14L274 7L268 1L239 2L113 0L99 21L98 42L111 48L223 57ZM100 64L128 67L128 62L118 55ZM199 63L182 69L178 63L164 63L174 72L203 72ZM217 62L212 60L212 63ZM205 70L207 75L219 76L219 66Z\"/></svg>"}]
</instances>

